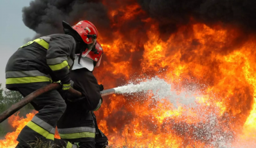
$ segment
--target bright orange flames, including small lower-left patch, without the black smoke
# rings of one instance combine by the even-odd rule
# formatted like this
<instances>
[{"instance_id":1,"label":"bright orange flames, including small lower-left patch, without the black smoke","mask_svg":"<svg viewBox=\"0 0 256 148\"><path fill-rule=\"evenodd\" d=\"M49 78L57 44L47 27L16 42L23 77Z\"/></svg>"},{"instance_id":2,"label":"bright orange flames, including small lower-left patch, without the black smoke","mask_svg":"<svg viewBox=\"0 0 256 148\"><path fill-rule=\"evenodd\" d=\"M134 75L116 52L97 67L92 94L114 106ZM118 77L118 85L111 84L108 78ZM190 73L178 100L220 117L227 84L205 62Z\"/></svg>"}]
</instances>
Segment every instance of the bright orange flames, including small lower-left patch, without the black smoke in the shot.
<instances>
[{"instance_id":1,"label":"bright orange flames, including small lower-left patch, without the black smoke","mask_svg":"<svg viewBox=\"0 0 256 148\"><path fill-rule=\"evenodd\" d=\"M114 30L113 41L106 36L99 39L104 47L102 65L95 70L99 82L108 89L158 76L177 93L193 85L200 96L196 107L174 107L170 101L154 100L150 92L104 98L95 114L109 143L116 147L256 147L256 36L232 25L206 25L191 18L164 41L158 22L141 16L145 12L134 3L109 8L111 24L120 30ZM125 30L127 20L138 18L147 24L145 28ZM15 147L17 134L32 114L15 118L9 122L17 131L0 140L0 147Z\"/></svg>"}]
</instances>

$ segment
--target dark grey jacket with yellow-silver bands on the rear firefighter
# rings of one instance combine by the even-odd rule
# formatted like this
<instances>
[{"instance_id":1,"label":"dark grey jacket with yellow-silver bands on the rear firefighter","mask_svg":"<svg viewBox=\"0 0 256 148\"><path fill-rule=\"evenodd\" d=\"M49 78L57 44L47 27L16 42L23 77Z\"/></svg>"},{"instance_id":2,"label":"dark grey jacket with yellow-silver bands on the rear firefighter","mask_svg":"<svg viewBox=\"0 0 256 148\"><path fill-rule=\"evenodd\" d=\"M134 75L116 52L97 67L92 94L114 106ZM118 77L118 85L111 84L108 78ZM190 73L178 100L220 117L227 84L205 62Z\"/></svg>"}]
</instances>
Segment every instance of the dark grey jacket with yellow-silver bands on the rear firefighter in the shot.
<instances>
[{"instance_id":1,"label":"dark grey jacket with yellow-silver bands on the rear firefighter","mask_svg":"<svg viewBox=\"0 0 256 148\"><path fill-rule=\"evenodd\" d=\"M52 34L30 41L10 57L6 65L6 88L60 80L69 83L74 57L73 36Z\"/></svg>"}]
</instances>

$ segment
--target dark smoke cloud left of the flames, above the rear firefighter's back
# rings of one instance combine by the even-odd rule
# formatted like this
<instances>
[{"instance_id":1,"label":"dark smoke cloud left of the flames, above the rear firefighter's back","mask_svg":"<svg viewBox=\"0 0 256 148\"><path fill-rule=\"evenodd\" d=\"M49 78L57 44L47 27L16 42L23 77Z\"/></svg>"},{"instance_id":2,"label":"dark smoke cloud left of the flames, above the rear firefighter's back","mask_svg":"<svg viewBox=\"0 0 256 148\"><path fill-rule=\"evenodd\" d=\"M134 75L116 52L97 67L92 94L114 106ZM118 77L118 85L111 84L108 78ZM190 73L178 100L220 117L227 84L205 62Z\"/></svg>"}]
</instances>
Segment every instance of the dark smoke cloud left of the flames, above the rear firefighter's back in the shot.
<instances>
[{"instance_id":1,"label":"dark smoke cloud left of the flames, above the rear firefighter's back","mask_svg":"<svg viewBox=\"0 0 256 148\"><path fill-rule=\"evenodd\" d=\"M93 22L102 36L111 34L107 31L110 28L107 9L100 1L35 0L22 11L25 25L37 32L37 36L62 33L62 21L74 25L82 20Z\"/></svg>"}]
</instances>

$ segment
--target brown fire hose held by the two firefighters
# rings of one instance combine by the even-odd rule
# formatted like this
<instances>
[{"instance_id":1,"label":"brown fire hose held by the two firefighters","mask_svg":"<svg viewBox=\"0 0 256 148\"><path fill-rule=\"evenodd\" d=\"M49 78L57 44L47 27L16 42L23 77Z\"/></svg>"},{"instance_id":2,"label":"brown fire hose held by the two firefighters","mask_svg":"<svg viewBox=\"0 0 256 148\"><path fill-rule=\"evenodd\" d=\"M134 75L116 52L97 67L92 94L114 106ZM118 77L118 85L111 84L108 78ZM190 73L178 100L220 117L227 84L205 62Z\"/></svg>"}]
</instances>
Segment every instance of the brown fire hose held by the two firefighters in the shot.
<instances>
[{"instance_id":1,"label":"brown fire hose held by the two firefighters","mask_svg":"<svg viewBox=\"0 0 256 148\"><path fill-rule=\"evenodd\" d=\"M40 89L37 89L35 92L32 92L28 96L22 98L21 101L15 103L10 108L8 108L5 112L0 114L0 123L2 123L3 120L6 120L10 116L12 116L12 114L15 114L15 112L17 112L22 107L24 107L25 105L27 105L28 103L33 101L33 99L37 98L37 96L40 96L41 94L49 92L53 89L60 89L61 87L62 86L60 85L60 83L51 83L51 84L46 85ZM101 96L107 96L109 94L114 94L115 92L116 92L115 89L112 88L112 89L103 90L102 92L100 92L100 94L101 94ZM81 92L78 92L77 90L75 90L73 88L68 89L68 93L71 94L71 96L73 96L74 98L79 98L82 96Z\"/></svg>"}]
</instances>

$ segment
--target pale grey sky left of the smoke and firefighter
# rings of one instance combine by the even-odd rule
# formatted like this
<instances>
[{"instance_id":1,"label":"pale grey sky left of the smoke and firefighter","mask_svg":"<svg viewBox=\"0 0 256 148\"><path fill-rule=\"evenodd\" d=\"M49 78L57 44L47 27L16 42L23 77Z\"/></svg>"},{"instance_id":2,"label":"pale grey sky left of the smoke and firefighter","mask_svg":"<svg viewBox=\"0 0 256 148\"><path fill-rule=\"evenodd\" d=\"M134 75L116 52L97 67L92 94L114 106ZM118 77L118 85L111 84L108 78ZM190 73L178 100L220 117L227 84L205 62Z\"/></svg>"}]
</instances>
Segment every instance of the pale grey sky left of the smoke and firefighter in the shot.
<instances>
[{"instance_id":1,"label":"pale grey sky left of the smoke and firefighter","mask_svg":"<svg viewBox=\"0 0 256 148\"><path fill-rule=\"evenodd\" d=\"M24 25L22 8L29 6L31 0L0 0L0 83L5 87L6 63L10 56L25 40L32 39L35 32Z\"/></svg>"}]
</instances>

